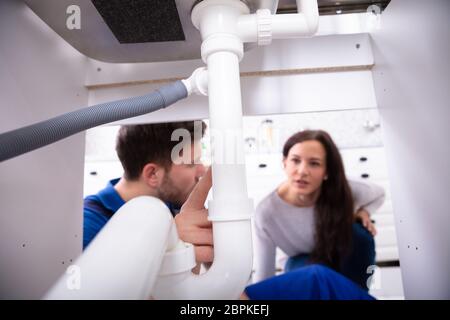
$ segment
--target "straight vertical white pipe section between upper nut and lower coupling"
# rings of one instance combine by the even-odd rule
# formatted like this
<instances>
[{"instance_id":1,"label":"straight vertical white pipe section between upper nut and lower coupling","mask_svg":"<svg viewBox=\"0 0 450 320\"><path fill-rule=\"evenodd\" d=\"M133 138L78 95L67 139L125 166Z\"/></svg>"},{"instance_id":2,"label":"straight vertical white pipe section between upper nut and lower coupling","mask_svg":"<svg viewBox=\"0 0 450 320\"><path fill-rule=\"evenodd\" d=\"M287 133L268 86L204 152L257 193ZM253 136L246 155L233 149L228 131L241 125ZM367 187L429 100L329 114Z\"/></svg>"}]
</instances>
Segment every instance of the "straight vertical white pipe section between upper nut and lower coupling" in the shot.
<instances>
[{"instance_id":1,"label":"straight vertical white pipe section between upper nut and lower coupling","mask_svg":"<svg viewBox=\"0 0 450 320\"><path fill-rule=\"evenodd\" d=\"M214 200L247 197L239 60L232 52L216 52L207 60L209 118L213 136Z\"/></svg>"}]
</instances>

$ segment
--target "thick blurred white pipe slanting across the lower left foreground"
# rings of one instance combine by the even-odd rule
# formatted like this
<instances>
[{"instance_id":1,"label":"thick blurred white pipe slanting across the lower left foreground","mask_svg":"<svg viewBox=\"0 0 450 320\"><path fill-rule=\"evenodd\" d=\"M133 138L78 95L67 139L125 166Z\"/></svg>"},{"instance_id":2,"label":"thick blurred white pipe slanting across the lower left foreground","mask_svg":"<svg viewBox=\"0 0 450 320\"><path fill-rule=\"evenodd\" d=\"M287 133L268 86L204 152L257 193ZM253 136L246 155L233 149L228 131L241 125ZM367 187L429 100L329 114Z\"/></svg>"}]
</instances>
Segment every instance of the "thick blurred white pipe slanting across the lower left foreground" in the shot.
<instances>
[{"instance_id":1,"label":"thick blurred white pipe slanting across the lower left foreground","mask_svg":"<svg viewBox=\"0 0 450 320\"><path fill-rule=\"evenodd\" d=\"M177 243L167 206L134 198L108 221L44 299L148 299L166 248Z\"/></svg>"}]
</instances>

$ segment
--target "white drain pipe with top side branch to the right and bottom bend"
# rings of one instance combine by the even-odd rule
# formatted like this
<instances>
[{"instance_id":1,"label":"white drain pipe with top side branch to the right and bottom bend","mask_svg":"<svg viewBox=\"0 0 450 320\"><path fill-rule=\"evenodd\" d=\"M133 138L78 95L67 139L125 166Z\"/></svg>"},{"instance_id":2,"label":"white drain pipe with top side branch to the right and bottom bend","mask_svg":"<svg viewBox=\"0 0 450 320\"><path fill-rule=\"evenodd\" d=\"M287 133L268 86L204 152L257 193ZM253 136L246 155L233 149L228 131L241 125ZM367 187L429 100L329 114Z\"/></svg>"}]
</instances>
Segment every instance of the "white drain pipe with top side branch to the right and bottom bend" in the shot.
<instances>
[{"instance_id":1,"label":"white drain pipe with top side branch to the right and bottom bend","mask_svg":"<svg viewBox=\"0 0 450 320\"><path fill-rule=\"evenodd\" d=\"M213 178L208 207L214 262L206 273L194 275L183 266L192 248L169 251L153 291L156 299L237 299L250 280L253 203L247 195L239 62L244 42L267 45L272 38L313 35L319 20L317 0L297 0L297 5L297 14L280 16L267 9L249 14L239 0L204 0L192 10L208 69Z\"/></svg>"}]
</instances>

